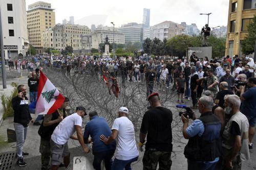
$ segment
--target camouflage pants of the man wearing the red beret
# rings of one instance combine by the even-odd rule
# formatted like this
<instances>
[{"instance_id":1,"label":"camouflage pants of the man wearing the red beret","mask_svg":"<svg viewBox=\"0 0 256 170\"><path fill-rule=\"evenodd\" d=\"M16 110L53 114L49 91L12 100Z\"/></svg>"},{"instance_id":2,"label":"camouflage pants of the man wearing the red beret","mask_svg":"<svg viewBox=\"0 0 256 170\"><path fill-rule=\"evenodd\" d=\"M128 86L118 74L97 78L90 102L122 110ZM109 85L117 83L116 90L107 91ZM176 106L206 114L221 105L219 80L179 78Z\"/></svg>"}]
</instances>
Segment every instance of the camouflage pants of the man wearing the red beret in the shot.
<instances>
[{"instance_id":1,"label":"camouflage pants of the man wearing the red beret","mask_svg":"<svg viewBox=\"0 0 256 170\"><path fill-rule=\"evenodd\" d=\"M149 149L145 151L142 162L143 170L155 170L157 163L159 163L159 170L167 170L172 166L172 160L170 158L171 152L157 151Z\"/></svg>"}]
</instances>

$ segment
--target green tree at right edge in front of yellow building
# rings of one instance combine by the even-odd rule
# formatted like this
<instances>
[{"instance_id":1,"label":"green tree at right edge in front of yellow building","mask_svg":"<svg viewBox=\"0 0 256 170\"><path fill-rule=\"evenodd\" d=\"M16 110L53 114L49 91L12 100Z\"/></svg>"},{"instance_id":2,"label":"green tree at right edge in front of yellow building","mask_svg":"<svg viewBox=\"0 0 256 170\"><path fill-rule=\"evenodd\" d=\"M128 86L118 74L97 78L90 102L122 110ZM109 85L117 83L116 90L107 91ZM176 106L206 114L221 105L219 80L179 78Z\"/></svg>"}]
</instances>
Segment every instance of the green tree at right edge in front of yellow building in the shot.
<instances>
[{"instance_id":1,"label":"green tree at right edge in front of yellow building","mask_svg":"<svg viewBox=\"0 0 256 170\"><path fill-rule=\"evenodd\" d=\"M253 21L248 26L248 31L248 34L241 43L243 54L252 54L254 52L256 42L256 15L254 15Z\"/></svg>"}]
</instances>

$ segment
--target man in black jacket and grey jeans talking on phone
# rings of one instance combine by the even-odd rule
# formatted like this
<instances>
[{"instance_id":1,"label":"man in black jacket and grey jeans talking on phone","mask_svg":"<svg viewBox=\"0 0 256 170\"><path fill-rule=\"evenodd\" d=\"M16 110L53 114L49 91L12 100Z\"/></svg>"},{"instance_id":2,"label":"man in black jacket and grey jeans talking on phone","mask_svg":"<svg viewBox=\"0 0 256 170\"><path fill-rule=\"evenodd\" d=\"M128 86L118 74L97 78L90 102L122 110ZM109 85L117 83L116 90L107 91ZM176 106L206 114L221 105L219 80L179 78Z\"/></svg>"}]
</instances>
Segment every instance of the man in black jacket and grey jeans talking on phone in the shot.
<instances>
[{"instance_id":1,"label":"man in black jacket and grey jeans talking on phone","mask_svg":"<svg viewBox=\"0 0 256 170\"><path fill-rule=\"evenodd\" d=\"M23 157L28 153L23 152L23 145L27 136L29 122L34 123L29 112L29 100L26 96L26 86L19 85L17 87L18 95L12 99L12 109L14 110L14 129L16 133L16 154L17 165L26 166Z\"/></svg>"}]
</instances>

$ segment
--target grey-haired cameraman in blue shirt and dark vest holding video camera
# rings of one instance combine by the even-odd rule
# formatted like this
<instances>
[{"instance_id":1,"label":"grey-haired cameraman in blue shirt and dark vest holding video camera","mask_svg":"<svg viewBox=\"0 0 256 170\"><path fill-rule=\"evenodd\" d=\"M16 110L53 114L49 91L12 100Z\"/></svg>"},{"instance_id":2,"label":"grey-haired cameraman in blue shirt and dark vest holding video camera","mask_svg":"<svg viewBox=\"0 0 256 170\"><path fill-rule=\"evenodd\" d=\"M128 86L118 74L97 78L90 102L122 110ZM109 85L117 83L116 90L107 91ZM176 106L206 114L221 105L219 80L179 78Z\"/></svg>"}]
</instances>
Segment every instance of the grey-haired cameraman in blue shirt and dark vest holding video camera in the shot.
<instances>
[{"instance_id":1,"label":"grey-haired cameraman in blue shirt and dark vest holding video camera","mask_svg":"<svg viewBox=\"0 0 256 170\"><path fill-rule=\"evenodd\" d=\"M184 150L188 169L215 169L221 156L221 120L212 113L214 102L203 95L198 101L201 116L188 126L188 116L181 116L183 136L189 139Z\"/></svg>"}]
</instances>

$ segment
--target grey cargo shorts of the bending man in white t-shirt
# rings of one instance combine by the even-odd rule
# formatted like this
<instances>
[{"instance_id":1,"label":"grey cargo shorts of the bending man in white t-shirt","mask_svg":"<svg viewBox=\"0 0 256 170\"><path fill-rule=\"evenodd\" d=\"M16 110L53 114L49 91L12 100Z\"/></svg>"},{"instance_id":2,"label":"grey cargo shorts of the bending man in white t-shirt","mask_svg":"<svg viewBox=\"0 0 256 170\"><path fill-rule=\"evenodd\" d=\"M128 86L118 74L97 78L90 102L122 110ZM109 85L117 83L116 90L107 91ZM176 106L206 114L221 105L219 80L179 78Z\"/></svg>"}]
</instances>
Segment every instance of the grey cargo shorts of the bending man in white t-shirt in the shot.
<instances>
[{"instance_id":1,"label":"grey cargo shorts of the bending man in white t-shirt","mask_svg":"<svg viewBox=\"0 0 256 170\"><path fill-rule=\"evenodd\" d=\"M57 144L51 139L50 144L52 151L51 165L60 165L62 157L68 156L70 154L68 142L65 144Z\"/></svg>"}]
</instances>

